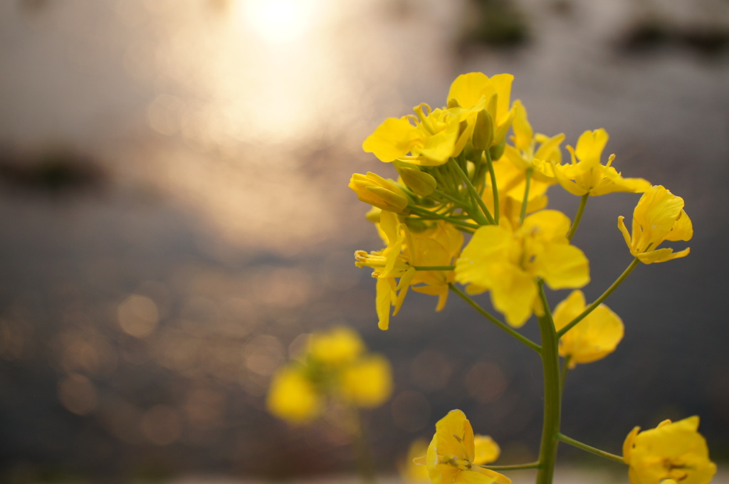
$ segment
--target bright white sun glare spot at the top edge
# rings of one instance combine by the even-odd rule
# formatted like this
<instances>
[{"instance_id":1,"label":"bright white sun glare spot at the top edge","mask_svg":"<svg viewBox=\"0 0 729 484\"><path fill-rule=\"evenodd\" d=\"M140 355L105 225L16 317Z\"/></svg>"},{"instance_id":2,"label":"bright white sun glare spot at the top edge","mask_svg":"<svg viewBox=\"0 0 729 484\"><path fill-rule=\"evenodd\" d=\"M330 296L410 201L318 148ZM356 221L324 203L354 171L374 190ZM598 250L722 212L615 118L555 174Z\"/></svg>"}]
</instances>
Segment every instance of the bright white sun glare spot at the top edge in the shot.
<instances>
[{"instance_id":1,"label":"bright white sun glare spot at the top edge","mask_svg":"<svg viewBox=\"0 0 729 484\"><path fill-rule=\"evenodd\" d=\"M317 0L247 0L240 11L246 24L262 39L280 44L310 31L319 7Z\"/></svg>"}]
</instances>

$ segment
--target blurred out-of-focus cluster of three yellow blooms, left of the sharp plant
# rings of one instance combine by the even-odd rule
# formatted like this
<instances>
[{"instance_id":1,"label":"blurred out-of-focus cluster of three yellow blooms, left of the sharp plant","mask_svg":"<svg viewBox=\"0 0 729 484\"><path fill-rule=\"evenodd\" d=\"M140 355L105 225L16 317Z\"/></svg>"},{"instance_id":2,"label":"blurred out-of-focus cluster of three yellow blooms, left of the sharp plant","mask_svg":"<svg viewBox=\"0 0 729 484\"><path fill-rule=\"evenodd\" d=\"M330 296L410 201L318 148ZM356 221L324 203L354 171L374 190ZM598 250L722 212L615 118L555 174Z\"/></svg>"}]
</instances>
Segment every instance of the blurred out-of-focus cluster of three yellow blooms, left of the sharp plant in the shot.
<instances>
[{"instance_id":1,"label":"blurred out-of-focus cluster of three yellow blooms, left of the sharp plant","mask_svg":"<svg viewBox=\"0 0 729 484\"><path fill-rule=\"evenodd\" d=\"M289 423L306 423L318 418L332 401L378 407L390 397L391 368L383 356L366 350L348 327L314 333L303 354L273 376L268 411Z\"/></svg>"}]
</instances>

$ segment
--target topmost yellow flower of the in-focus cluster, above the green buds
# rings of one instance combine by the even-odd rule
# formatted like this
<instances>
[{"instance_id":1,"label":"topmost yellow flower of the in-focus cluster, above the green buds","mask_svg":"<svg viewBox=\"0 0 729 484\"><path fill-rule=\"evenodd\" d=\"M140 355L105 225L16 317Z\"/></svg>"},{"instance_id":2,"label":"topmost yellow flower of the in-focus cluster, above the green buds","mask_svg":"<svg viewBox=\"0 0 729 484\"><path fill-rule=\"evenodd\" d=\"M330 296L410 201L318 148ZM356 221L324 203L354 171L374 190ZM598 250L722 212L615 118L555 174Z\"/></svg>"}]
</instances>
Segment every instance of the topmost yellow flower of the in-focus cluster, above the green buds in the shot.
<instances>
[{"instance_id":1,"label":"topmost yellow flower of the in-focus cluster, above the green buds","mask_svg":"<svg viewBox=\"0 0 729 484\"><path fill-rule=\"evenodd\" d=\"M493 136L490 137L491 146L504 141L511 126L514 111L509 109L509 104L513 80L511 74L497 74L489 79L481 72L470 72L456 77L451 89L448 90L449 103L451 99L455 99L461 108L472 109L474 114L472 114L473 120L469 122L471 127L475 124L477 112L483 109L478 106L486 106L494 130Z\"/></svg>"}]
</instances>

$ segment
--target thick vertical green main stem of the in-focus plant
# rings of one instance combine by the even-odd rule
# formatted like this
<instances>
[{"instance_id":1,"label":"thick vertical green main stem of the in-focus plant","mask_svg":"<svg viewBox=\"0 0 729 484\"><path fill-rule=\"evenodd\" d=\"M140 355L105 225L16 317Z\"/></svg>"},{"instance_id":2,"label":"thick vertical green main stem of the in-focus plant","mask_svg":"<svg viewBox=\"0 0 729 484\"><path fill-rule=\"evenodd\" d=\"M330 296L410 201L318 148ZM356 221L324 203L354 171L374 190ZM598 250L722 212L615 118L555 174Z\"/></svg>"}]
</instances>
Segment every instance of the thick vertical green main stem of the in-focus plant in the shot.
<instances>
[{"instance_id":1,"label":"thick vertical green main stem of the in-focus plant","mask_svg":"<svg viewBox=\"0 0 729 484\"><path fill-rule=\"evenodd\" d=\"M544 281L539 281L539 296L544 305L544 316L540 316L539 333L542 335L542 367L545 377L545 414L542 426L542 442L539 445L537 484L552 484L554 464L557 460L559 423L561 416L561 394L559 385L558 337L552 313L544 291Z\"/></svg>"}]
</instances>

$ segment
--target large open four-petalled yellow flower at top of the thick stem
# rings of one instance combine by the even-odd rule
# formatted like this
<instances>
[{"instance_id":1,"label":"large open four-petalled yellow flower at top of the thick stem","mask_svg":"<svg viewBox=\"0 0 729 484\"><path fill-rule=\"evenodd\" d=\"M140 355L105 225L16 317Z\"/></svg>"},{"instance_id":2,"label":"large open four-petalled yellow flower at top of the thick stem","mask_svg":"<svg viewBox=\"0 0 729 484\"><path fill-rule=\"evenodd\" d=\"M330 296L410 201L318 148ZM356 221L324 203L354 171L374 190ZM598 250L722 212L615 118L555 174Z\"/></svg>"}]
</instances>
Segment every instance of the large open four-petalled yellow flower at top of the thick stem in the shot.
<instances>
[{"instance_id":1,"label":"large open four-petalled yellow flower at top of the thick stem","mask_svg":"<svg viewBox=\"0 0 729 484\"><path fill-rule=\"evenodd\" d=\"M569 218L542 210L524 219L517 230L508 222L480 227L456 261L456 281L467 292L491 292L496 310L513 327L531 313L543 313L537 278L551 289L585 286L590 281L588 259L569 244Z\"/></svg>"}]
</instances>

